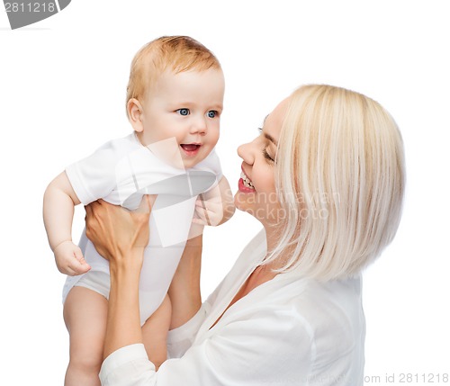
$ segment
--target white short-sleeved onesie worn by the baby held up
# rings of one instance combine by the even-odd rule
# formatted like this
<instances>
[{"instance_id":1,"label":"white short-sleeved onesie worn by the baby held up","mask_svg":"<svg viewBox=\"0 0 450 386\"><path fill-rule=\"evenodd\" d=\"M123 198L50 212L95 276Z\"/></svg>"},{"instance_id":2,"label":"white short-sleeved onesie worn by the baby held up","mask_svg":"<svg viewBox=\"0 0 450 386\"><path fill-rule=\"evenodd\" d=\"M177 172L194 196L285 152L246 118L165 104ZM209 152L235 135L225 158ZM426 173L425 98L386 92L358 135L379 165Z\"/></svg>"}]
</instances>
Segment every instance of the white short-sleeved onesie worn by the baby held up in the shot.
<instances>
[{"instance_id":1,"label":"white short-sleeved onesie worn by the baby held up","mask_svg":"<svg viewBox=\"0 0 450 386\"><path fill-rule=\"evenodd\" d=\"M175 164L182 165L175 139L166 139L157 145L161 145L159 149L175 149L175 152L166 152L166 156L177 155L180 159ZM70 184L84 205L102 198L135 210L144 194L157 194L150 214L149 242L140 274L141 325L166 296L188 238L197 195L210 190L221 178L220 161L214 150L202 162L184 169L171 166L172 162L169 165L155 155L154 149L155 144L145 147L132 133L107 142L91 156L66 169ZM85 275L96 272L109 274L107 260L85 237L85 229L79 247L92 269L87 274L67 276L63 302L71 288ZM90 282L97 277L95 274L91 276ZM98 283L98 290L93 289L102 293L101 284Z\"/></svg>"}]
</instances>

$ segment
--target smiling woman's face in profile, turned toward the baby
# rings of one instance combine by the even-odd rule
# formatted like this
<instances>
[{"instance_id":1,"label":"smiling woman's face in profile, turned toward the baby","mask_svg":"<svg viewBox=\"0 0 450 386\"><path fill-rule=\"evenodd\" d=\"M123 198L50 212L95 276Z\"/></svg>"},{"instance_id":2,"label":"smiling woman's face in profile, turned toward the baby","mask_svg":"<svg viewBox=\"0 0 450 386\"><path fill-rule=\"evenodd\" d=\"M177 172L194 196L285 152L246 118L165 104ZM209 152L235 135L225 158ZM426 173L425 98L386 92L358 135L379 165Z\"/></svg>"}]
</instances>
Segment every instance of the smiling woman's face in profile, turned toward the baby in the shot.
<instances>
[{"instance_id":1,"label":"smiling woman's face in profile, turned toward the baby","mask_svg":"<svg viewBox=\"0 0 450 386\"><path fill-rule=\"evenodd\" d=\"M259 136L238 147L243 162L234 196L236 208L247 211L265 226L276 224L282 214L275 190L275 157L287 104L288 99L278 104L266 116Z\"/></svg>"}]
</instances>

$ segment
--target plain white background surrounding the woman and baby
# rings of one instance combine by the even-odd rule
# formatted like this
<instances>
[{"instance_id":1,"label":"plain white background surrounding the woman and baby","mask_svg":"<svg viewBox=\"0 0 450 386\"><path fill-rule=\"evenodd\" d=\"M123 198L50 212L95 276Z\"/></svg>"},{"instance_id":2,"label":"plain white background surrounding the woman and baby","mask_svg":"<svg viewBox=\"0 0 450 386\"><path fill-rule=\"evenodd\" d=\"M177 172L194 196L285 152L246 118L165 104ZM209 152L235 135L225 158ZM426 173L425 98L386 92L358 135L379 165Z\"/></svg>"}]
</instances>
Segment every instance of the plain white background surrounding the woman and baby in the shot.
<instances>
[{"instance_id":1,"label":"plain white background surrounding the woman and baby","mask_svg":"<svg viewBox=\"0 0 450 386\"><path fill-rule=\"evenodd\" d=\"M227 89L218 152L234 191L236 148L298 85L355 89L392 113L405 142L408 191L397 238L365 274L366 383L450 373L447 3L74 0L16 31L2 11L0 382L62 384L64 278L42 226L42 194L65 166L130 132L130 60L165 34L191 35L221 61ZM83 217L77 209L74 238ZM207 229L204 296L257 229L244 213Z\"/></svg>"}]
</instances>

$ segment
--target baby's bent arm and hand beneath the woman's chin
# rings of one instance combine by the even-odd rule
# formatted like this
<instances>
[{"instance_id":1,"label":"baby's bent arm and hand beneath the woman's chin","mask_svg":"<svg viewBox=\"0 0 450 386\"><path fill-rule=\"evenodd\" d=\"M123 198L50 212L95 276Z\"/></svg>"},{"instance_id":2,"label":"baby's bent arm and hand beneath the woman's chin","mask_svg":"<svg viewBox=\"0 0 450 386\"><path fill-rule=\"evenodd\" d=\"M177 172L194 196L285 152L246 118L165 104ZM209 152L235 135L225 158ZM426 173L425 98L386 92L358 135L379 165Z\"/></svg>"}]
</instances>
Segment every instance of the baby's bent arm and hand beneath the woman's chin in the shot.
<instances>
[{"instance_id":1,"label":"baby's bent arm and hand beneath the woman's chin","mask_svg":"<svg viewBox=\"0 0 450 386\"><path fill-rule=\"evenodd\" d=\"M196 218L193 223L200 225L220 225L231 219L236 210L233 193L225 176L210 191L199 195L195 202Z\"/></svg>"}]
</instances>

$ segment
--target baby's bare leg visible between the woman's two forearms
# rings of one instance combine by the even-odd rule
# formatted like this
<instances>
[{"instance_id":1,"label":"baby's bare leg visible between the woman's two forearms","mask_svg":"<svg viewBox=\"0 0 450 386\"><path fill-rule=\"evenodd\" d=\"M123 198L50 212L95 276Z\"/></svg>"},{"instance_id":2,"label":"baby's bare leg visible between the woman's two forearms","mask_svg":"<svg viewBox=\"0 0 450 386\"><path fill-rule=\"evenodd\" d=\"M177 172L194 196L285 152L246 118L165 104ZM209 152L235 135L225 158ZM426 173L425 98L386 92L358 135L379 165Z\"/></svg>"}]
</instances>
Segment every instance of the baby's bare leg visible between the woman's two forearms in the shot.
<instances>
[{"instance_id":1,"label":"baby's bare leg visible between the woman's two forearms","mask_svg":"<svg viewBox=\"0 0 450 386\"><path fill-rule=\"evenodd\" d=\"M142 326L142 338L148 359L158 367L167 358L167 333L172 316L172 305L168 295L159 308Z\"/></svg>"}]
</instances>

